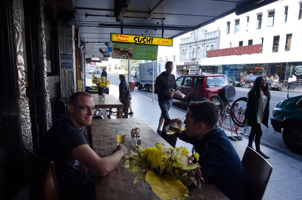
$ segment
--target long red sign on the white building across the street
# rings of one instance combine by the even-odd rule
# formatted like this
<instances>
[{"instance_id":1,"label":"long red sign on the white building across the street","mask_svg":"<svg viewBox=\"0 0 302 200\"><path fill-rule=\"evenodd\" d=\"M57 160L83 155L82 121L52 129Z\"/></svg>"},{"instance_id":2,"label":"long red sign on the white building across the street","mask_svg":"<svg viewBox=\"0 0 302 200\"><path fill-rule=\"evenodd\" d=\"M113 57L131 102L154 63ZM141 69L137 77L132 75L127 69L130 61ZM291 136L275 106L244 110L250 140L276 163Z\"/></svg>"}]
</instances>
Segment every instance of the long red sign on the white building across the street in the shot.
<instances>
[{"instance_id":1,"label":"long red sign on the white building across the street","mask_svg":"<svg viewBox=\"0 0 302 200\"><path fill-rule=\"evenodd\" d=\"M255 44L249 46L239 46L239 47L232 47L232 48L209 50L206 51L206 57L261 53L261 49L262 49L262 44Z\"/></svg>"}]
</instances>

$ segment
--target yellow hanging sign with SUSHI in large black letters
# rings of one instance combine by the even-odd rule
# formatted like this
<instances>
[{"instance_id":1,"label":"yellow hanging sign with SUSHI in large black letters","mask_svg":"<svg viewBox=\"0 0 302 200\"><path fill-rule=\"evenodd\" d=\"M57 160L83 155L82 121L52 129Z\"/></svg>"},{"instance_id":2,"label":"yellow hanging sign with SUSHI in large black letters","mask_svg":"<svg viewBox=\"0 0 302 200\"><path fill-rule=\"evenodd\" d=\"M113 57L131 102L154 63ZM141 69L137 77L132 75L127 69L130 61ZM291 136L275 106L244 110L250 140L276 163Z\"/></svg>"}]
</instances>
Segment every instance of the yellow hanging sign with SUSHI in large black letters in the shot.
<instances>
[{"instance_id":1,"label":"yellow hanging sign with SUSHI in large black letters","mask_svg":"<svg viewBox=\"0 0 302 200\"><path fill-rule=\"evenodd\" d=\"M128 42L134 44L153 44L163 46L173 46L173 39L160 38L160 37L147 37L141 35L126 35L111 33L112 42Z\"/></svg>"}]
</instances>

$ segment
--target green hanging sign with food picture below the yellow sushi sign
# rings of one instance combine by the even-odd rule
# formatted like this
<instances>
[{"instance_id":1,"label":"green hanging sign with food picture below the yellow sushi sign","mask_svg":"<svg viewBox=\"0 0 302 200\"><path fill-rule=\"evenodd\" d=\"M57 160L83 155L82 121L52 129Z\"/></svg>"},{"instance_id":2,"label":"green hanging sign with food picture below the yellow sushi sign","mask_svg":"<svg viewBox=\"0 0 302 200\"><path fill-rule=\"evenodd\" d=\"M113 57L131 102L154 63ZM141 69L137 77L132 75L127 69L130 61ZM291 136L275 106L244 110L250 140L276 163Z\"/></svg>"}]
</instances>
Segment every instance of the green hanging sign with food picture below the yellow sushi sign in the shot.
<instances>
[{"instance_id":1,"label":"green hanging sign with food picture below the yellow sushi sign","mask_svg":"<svg viewBox=\"0 0 302 200\"><path fill-rule=\"evenodd\" d=\"M133 43L112 43L112 58L134 60L157 60L158 46Z\"/></svg>"}]
</instances>

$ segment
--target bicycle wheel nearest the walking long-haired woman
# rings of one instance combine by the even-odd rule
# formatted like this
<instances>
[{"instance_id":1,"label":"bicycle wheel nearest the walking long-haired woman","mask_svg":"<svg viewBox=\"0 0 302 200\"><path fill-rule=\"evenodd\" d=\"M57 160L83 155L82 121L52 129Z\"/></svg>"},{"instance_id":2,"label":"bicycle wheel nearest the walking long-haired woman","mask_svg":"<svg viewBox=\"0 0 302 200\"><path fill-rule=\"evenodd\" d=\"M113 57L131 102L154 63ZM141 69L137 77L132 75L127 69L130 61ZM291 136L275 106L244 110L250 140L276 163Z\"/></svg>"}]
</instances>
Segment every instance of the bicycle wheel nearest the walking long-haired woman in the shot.
<instances>
[{"instance_id":1,"label":"bicycle wheel nearest the walking long-haired woman","mask_svg":"<svg viewBox=\"0 0 302 200\"><path fill-rule=\"evenodd\" d=\"M244 113L247 108L248 98L241 97L234 101L231 107L231 118L239 127L244 127Z\"/></svg>"}]
</instances>

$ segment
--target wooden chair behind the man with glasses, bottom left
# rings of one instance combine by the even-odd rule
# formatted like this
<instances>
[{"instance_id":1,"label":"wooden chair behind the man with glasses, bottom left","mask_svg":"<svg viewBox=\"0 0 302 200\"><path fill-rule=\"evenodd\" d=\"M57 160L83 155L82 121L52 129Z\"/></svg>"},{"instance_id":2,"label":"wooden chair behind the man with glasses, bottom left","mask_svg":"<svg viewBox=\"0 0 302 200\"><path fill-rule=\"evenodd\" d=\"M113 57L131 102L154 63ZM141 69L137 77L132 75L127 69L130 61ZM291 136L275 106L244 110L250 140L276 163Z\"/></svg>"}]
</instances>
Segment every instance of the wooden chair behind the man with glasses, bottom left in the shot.
<instances>
[{"instance_id":1,"label":"wooden chair behind the man with glasses, bottom left","mask_svg":"<svg viewBox=\"0 0 302 200\"><path fill-rule=\"evenodd\" d=\"M53 161L32 154L22 145L21 149L26 163L30 199L59 199L59 189Z\"/></svg>"}]
</instances>

